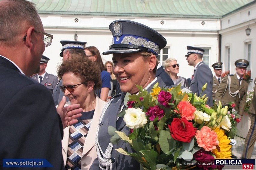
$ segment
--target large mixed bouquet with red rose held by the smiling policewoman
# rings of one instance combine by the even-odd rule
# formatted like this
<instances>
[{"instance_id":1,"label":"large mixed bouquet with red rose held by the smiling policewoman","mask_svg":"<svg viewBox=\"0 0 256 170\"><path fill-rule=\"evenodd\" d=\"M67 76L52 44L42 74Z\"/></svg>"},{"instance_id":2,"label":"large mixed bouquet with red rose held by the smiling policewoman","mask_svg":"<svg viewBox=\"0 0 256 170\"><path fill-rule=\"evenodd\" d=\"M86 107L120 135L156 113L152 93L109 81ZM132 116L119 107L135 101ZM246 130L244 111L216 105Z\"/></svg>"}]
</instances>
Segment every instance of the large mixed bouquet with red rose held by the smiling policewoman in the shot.
<instances>
[{"instance_id":1,"label":"large mixed bouquet with red rose held by the smiling policewoman","mask_svg":"<svg viewBox=\"0 0 256 170\"><path fill-rule=\"evenodd\" d=\"M231 158L225 134L231 128L227 106L222 108L219 103L210 108L208 97L197 97L180 85L169 89L155 84L151 93L137 87L137 95L126 94L127 108L118 115L123 116L130 134L108 128L112 143L123 140L134 150L128 153L118 148L118 152L133 157L145 170L223 168L213 161Z\"/></svg>"}]
</instances>

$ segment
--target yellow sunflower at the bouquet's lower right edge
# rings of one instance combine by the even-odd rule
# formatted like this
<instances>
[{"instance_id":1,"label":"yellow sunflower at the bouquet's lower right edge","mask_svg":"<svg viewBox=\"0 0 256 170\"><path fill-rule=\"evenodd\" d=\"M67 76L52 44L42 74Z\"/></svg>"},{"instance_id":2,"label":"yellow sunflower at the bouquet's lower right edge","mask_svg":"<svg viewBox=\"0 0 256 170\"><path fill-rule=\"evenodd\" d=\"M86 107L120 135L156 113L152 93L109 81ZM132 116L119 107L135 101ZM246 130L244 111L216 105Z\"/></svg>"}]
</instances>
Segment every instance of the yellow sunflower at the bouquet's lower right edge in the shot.
<instances>
[{"instance_id":1,"label":"yellow sunflower at the bouquet's lower right edge","mask_svg":"<svg viewBox=\"0 0 256 170\"><path fill-rule=\"evenodd\" d=\"M216 158L231 159L231 145L229 145L230 140L227 139L224 130L215 128L215 132L217 133L219 144L216 149L212 150L212 153Z\"/></svg>"}]
</instances>

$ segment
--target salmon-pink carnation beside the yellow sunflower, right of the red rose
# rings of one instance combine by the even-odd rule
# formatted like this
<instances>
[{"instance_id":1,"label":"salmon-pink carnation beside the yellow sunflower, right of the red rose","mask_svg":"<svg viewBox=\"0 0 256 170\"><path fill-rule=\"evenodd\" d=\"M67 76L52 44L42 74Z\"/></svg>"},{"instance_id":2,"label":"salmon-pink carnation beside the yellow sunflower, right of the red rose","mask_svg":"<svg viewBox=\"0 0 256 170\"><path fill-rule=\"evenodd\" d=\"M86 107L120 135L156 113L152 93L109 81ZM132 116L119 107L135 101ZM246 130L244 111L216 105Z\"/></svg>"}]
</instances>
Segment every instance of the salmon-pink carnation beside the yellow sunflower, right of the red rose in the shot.
<instances>
[{"instance_id":1,"label":"salmon-pink carnation beside the yellow sunflower, right of the red rose","mask_svg":"<svg viewBox=\"0 0 256 170\"><path fill-rule=\"evenodd\" d=\"M216 149L216 145L219 144L217 133L207 126L203 126L201 130L197 130L195 137L198 146L204 148L206 151Z\"/></svg>"}]
</instances>

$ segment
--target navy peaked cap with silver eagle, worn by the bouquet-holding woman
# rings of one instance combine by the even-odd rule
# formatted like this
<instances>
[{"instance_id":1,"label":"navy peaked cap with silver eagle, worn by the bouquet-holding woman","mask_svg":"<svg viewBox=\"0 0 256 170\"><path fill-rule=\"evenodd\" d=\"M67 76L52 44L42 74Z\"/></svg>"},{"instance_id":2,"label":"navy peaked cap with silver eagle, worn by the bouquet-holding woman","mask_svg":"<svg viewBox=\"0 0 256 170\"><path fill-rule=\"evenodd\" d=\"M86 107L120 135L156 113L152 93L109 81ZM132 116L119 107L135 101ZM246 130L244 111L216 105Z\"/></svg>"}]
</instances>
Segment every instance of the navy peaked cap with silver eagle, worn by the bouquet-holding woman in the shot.
<instances>
[{"instance_id":1,"label":"navy peaked cap with silver eagle, worn by the bouquet-holding woman","mask_svg":"<svg viewBox=\"0 0 256 170\"><path fill-rule=\"evenodd\" d=\"M166 46L166 39L161 34L138 22L116 20L109 29L113 35L112 45L102 55L147 51L157 56Z\"/></svg>"}]
</instances>

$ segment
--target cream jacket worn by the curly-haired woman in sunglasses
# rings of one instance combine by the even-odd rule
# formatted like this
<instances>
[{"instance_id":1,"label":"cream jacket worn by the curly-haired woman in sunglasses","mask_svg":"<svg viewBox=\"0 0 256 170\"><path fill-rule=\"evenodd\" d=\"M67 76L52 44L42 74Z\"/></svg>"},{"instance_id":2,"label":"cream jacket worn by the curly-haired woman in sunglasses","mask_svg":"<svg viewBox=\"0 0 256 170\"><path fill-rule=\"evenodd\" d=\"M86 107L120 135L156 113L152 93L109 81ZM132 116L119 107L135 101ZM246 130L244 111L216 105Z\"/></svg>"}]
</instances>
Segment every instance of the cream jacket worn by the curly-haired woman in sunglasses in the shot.
<instances>
[{"instance_id":1,"label":"cream jacket worn by the curly-haired woman in sunglasses","mask_svg":"<svg viewBox=\"0 0 256 170\"><path fill-rule=\"evenodd\" d=\"M89 131L87 133L86 140L84 142L84 149L82 153L81 158L81 169L82 170L88 170L93 163L93 160L97 158L97 152L95 147L95 141L96 141L96 132L99 125L99 118L102 112L103 107L105 106L106 102L102 101L97 95L96 95L96 106L95 111L93 115L93 120L91 123L91 126L89 128ZM70 105L70 102L67 102L66 105ZM69 127L66 127L64 129L64 137L62 139L62 156L64 160L64 164L66 165L67 162L67 154L68 154L68 145L69 145Z\"/></svg>"}]
</instances>

